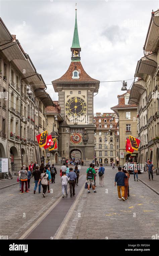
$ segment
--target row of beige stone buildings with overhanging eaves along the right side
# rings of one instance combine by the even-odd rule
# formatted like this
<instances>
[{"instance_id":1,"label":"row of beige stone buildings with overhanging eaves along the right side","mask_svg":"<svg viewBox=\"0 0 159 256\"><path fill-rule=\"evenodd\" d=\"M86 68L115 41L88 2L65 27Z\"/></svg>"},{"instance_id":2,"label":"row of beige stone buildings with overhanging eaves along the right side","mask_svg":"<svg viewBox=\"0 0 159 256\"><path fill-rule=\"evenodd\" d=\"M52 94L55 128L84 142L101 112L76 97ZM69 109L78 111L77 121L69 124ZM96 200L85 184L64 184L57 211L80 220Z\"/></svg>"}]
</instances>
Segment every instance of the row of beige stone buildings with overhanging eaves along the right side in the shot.
<instances>
[{"instance_id":1,"label":"row of beige stone buildings with overhanging eaves along the right side","mask_svg":"<svg viewBox=\"0 0 159 256\"><path fill-rule=\"evenodd\" d=\"M144 57L136 67L129 103L138 105L138 136L141 138L138 161L151 159L159 169L159 10L152 12L145 44Z\"/></svg>"}]
</instances>

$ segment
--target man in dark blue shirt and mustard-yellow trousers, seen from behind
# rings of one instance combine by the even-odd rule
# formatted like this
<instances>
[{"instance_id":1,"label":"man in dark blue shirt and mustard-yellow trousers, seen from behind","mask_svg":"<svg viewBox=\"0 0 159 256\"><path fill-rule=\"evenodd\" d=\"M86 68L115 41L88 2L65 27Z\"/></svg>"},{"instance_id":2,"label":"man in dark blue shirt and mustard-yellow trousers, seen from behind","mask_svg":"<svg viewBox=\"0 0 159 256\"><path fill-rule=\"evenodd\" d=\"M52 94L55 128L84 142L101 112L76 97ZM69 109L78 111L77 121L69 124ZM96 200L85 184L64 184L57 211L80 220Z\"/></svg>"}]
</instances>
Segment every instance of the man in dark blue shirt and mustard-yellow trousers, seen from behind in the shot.
<instances>
[{"instance_id":1,"label":"man in dark blue shirt and mustard-yellow trousers, seen from behind","mask_svg":"<svg viewBox=\"0 0 159 256\"><path fill-rule=\"evenodd\" d=\"M117 189L118 189L118 200L123 200L125 201L124 198L124 194L125 194L125 181L124 179L127 179L127 176L124 172L121 171L121 167L118 167L118 172L115 175L115 182L114 182L114 186L116 186L116 182L117 182ZM121 197L121 193L120 193L120 188L121 188L121 192L122 192L122 197Z\"/></svg>"}]
</instances>

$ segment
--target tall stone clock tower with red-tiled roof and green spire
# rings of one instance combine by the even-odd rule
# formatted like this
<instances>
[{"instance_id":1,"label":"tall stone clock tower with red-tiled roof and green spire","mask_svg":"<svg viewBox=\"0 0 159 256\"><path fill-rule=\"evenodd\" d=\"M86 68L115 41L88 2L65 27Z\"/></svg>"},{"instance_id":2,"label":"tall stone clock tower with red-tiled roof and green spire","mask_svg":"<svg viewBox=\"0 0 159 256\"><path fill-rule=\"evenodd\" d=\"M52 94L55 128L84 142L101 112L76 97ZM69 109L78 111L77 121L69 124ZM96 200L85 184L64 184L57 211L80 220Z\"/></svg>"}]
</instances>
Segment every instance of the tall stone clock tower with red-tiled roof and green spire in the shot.
<instances>
[{"instance_id":1,"label":"tall stone clock tower with red-tiled roof and green spire","mask_svg":"<svg viewBox=\"0 0 159 256\"><path fill-rule=\"evenodd\" d=\"M75 10L76 11L76 10ZM78 151L85 164L94 159L93 97L100 82L90 77L81 64L77 17L71 46L71 63L64 75L52 81L64 122L59 125L59 154L69 159ZM79 158L79 154L78 157Z\"/></svg>"}]
</instances>

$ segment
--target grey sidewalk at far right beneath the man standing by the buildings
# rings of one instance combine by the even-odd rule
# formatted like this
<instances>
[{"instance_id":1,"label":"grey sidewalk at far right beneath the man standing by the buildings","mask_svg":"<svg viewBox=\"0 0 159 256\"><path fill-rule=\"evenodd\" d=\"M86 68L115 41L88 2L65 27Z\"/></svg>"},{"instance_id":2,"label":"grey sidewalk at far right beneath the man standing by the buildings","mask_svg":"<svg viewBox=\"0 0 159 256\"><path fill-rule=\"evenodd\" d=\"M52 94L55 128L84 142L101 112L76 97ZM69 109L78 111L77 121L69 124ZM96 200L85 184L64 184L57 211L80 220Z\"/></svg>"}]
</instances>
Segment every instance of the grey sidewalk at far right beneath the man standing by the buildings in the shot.
<instances>
[{"instance_id":1,"label":"grey sidewalk at far right beneath the man standing by the buildings","mask_svg":"<svg viewBox=\"0 0 159 256\"><path fill-rule=\"evenodd\" d=\"M153 173L153 181L149 181L148 172L142 172L138 174L139 181L143 182L146 186L154 190L159 195L159 175Z\"/></svg>"}]
</instances>

